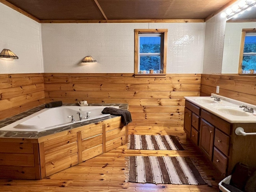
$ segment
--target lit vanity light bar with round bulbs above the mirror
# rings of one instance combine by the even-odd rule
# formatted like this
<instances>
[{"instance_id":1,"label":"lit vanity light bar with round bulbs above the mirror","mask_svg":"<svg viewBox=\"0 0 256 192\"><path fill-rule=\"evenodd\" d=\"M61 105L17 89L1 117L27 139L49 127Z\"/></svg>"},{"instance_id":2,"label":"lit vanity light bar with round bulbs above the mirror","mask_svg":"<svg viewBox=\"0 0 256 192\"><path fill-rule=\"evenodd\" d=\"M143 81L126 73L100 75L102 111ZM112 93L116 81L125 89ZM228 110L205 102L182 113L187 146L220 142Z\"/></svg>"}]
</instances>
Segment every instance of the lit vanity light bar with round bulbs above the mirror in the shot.
<instances>
[{"instance_id":1,"label":"lit vanity light bar with round bulbs above the mirror","mask_svg":"<svg viewBox=\"0 0 256 192\"><path fill-rule=\"evenodd\" d=\"M256 6L256 0L241 0L238 4L234 4L232 8L227 8L220 16L231 19L238 14L242 14L245 10L250 10L252 6Z\"/></svg>"}]
</instances>

